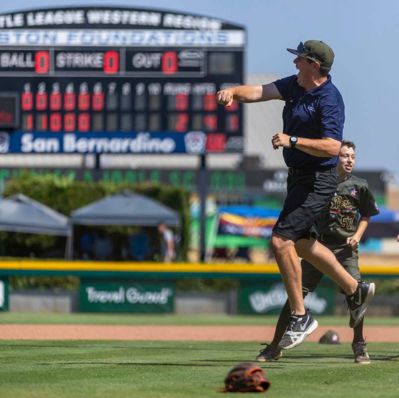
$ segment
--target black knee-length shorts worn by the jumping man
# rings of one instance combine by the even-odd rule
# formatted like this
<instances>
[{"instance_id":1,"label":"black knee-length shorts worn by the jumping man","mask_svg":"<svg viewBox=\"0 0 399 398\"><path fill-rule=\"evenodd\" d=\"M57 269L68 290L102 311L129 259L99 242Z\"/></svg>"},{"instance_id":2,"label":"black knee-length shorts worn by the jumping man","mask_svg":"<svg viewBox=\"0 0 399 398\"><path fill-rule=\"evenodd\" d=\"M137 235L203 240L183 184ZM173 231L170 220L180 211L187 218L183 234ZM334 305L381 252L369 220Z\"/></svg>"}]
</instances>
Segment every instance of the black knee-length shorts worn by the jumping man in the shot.
<instances>
[{"instance_id":1,"label":"black knee-length shorts worn by the jumping man","mask_svg":"<svg viewBox=\"0 0 399 398\"><path fill-rule=\"evenodd\" d=\"M299 239L317 239L314 222L330 203L337 184L335 169L289 175L287 197L273 231L294 242Z\"/></svg>"}]
</instances>

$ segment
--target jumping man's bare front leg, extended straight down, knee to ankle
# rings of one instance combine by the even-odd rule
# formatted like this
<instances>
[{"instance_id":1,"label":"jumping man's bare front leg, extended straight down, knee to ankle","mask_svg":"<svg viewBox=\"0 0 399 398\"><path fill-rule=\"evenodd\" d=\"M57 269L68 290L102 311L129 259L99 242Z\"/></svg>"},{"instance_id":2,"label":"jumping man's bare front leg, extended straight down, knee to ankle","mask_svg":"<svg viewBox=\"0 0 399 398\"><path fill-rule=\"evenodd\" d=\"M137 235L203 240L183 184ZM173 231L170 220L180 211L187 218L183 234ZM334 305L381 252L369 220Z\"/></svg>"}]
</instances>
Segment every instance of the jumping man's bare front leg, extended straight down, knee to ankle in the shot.
<instances>
[{"instance_id":1,"label":"jumping man's bare front leg, extended straight down, knee to ankle","mask_svg":"<svg viewBox=\"0 0 399 398\"><path fill-rule=\"evenodd\" d=\"M273 232L270 248L279 266L291 311L295 311L297 315L303 315L305 307L302 297L302 270L295 250L295 243L291 239Z\"/></svg>"}]
</instances>

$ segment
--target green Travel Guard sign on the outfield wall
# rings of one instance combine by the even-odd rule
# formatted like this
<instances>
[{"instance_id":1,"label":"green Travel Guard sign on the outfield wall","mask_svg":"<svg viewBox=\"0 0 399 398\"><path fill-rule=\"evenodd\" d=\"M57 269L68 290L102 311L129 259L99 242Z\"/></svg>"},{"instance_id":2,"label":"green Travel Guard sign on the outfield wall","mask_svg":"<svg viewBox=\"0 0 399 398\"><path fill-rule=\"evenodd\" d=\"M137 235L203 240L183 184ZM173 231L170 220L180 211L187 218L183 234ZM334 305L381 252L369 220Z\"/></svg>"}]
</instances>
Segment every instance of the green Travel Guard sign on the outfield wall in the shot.
<instances>
[{"instance_id":1,"label":"green Travel Guard sign on the outfield wall","mask_svg":"<svg viewBox=\"0 0 399 398\"><path fill-rule=\"evenodd\" d=\"M171 282L83 278L79 309L84 312L173 312L174 296L175 287Z\"/></svg>"}]
</instances>

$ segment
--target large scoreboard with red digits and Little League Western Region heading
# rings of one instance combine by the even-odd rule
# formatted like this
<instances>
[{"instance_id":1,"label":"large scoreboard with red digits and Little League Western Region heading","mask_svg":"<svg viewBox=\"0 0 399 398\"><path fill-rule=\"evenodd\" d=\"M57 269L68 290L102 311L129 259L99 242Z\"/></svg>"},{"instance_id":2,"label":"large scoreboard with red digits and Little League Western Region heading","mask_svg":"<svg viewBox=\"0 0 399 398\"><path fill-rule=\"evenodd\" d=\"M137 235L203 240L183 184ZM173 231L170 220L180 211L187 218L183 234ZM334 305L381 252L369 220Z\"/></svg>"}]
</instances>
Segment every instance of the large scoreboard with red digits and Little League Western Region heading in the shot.
<instances>
[{"instance_id":1,"label":"large scoreboard with red digits and Little League Western Region heading","mask_svg":"<svg viewBox=\"0 0 399 398\"><path fill-rule=\"evenodd\" d=\"M242 105L218 106L215 93L243 84L244 45L242 26L177 12L69 7L2 14L0 129L15 131L8 151L61 152L62 144L46 139L68 133L145 133L177 140L176 148L189 134L186 144L203 139L197 145L204 152L240 152ZM24 146L29 139L44 144Z\"/></svg>"}]
</instances>

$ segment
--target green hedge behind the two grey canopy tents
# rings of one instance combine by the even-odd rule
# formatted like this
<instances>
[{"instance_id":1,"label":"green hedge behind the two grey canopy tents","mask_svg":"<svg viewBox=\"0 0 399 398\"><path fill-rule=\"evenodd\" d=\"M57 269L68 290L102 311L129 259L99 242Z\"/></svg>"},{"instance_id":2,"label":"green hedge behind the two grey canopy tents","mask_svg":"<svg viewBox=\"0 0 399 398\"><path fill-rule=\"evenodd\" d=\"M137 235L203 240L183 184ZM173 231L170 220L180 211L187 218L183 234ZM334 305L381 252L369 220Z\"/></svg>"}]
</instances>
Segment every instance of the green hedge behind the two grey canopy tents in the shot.
<instances>
[{"instance_id":1,"label":"green hedge behind the two grey canopy tents","mask_svg":"<svg viewBox=\"0 0 399 398\"><path fill-rule=\"evenodd\" d=\"M189 194L183 188L165 184L130 184L127 182L90 182L73 181L68 177L56 177L53 174L31 176L28 172L7 182L3 197L22 193L52 209L69 216L71 211L88 205L104 196L115 194L123 189L130 189L136 193L158 200L159 202L176 210L182 220L180 244L180 260L185 260L190 241L190 207ZM76 226L75 249L80 235L87 230L95 230L100 235L111 238L113 247L119 250L123 245L128 245L128 236L133 232L146 232L150 237L150 245L159 252L160 236L156 228L139 227L85 227ZM18 257L62 257L65 248L65 238L50 235L34 235L0 232L1 255ZM115 251L116 251L115 250ZM119 251L120 253L120 251ZM120 260L115 258L115 260ZM159 260L159 255L154 255L153 260Z\"/></svg>"}]
</instances>

